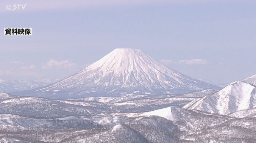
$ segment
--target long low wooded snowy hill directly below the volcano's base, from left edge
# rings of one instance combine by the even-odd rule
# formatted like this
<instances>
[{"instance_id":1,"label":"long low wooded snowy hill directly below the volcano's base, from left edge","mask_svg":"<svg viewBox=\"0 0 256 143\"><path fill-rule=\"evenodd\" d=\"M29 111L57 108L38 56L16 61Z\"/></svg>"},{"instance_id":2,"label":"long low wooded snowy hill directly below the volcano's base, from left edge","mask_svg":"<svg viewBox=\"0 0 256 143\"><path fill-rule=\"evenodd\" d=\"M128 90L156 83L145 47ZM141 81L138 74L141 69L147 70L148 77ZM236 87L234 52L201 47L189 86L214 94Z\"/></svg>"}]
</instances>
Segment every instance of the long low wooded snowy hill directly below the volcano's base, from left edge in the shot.
<instances>
[{"instance_id":1,"label":"long low wooded snowy hill directly below the volcano's base, from left edge","mask_svg":"<svg viewBox=\"0 0 256 143\"><path fill-rule=\"evenodd\" d=\"M58 100L39 97L0 94L0 114L17 114L32 117L94 116L102 113L141 113L169 106L182 107L193 98L136 98L116 103L85 100ZM118 100L116 100L118 101Z\"/></svg>"}]
</instances>

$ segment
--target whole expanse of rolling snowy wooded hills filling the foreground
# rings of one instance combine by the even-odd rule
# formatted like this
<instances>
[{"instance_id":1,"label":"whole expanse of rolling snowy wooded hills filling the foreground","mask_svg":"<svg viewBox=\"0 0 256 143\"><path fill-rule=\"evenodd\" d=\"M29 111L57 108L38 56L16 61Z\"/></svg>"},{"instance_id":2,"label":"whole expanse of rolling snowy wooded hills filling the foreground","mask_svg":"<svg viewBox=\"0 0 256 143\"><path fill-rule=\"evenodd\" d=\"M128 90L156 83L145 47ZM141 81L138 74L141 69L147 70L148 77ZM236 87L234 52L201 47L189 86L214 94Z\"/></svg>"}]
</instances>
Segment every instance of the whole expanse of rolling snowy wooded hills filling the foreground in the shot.
<instances>
[{"instance_id":1,"label":"whole expanse of rolling snowy wooded hills filling the foreground","mask_svg":"<svg viewBox=\"0 0 256 143\"><path fill-rule=\"evenodd\" d=\"M198 91L199 92L199 91ZM211 93L211 91L201 91ZM194 94L194 93L190 93ZM154 101L129 105L112 100L59 100L0 94L2 143L254 143L255 114L222 116ZM142 96L141 96L142 97ZM143 95L142 98L157 99ZM162 96L160 96L162 98ZM190 97L190 95L189 95ZM115 97L118 100L121 97ZM140 98L134 95L134 100ZM178 97L174 97L178 98ZM197 98L197 97L193 97ZM86 98L84 98L86 99ZM107 102L107 100L109 100ZM113 99L115 100L115 99ZM147 99L144 99L147 100ZM170 100L169 100L170 101ZM168 102L169 102L168 101ZM178 101L178 100L177 100ZM111 103L110 103L111 102ZM126 102L126 103L125 103ZM178 101L180 102L180 101ZM120 105L116 103L122 103ZM152 107L153 107L152 106ZM137 111L136 111L137 110ZM250 109L254 110L255 109ZM243 116L243 115L242 115ZM223 135L223 132L225 133Z\"/></svg>"}]
</instances>

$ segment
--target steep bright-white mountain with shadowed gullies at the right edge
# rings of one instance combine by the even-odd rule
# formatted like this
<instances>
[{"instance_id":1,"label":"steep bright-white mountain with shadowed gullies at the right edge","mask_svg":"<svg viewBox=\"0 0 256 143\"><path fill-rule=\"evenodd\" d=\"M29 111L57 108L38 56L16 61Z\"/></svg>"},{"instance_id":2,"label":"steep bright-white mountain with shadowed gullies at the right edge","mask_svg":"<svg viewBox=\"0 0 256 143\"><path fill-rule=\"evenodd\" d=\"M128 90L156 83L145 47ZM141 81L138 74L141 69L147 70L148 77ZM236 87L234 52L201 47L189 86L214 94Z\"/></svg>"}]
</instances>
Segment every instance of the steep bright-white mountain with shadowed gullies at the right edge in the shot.
<instances>
[{"instance_id":1,"label":"steep bright-white mountain with shadowed gullies at the right edge","mask_svg":"<svg viewBox=\"0 0 256 143\"><path fill-rule=\"evenodd\" d=\"M217 93L195 99L184 108L227 115L256 106L256 86L237 81Z\"/></svg>"}]
</instances>

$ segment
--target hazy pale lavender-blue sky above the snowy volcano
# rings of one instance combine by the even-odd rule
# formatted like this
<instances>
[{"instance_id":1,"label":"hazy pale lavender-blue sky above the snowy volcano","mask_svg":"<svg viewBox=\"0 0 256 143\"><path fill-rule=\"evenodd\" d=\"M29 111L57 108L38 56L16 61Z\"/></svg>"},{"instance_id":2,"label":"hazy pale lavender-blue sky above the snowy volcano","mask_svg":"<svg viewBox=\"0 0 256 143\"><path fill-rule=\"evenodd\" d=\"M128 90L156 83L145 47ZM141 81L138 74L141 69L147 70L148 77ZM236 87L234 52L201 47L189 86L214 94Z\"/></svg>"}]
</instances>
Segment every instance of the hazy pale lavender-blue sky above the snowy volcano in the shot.
<instances>
[{"instance_id":1,"label":"hazy pale lavender-blue sky above the snowy volcano","mask_svg":"<svg viewBox=\"0 0 256 143\"><path fill-rule=\"evenodd\" d=\"M0 79L63 78L133 48L193 78L242 80L256 74L255 9L255 0L1 0L2 33L33 36L0 34Z\"/></svg>"}]
</instances>

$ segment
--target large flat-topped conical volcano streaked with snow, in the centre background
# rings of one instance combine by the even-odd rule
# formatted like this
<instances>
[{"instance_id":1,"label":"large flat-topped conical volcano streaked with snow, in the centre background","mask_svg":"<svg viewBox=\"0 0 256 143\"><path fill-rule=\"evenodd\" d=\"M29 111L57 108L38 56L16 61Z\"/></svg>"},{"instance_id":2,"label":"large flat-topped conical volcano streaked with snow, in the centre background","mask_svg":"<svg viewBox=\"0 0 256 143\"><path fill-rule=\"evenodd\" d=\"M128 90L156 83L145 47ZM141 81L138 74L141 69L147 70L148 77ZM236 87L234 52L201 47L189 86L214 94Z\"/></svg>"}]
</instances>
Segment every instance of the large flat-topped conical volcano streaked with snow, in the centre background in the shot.
<instances>
[{"instance_id":1,"label":"large flat-topped conical volcano streaked with snow, in the centre background","mask_svg":"<svg viewBox=\"0 0 256 143\"><path fill-rule=\"evenodd\" d=\"M168 68L141 50L115 49L83 70L28 93L67 98L186 93L208 88L219 87Z\"/></svg>"}]
</instances>

